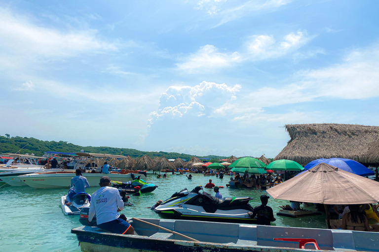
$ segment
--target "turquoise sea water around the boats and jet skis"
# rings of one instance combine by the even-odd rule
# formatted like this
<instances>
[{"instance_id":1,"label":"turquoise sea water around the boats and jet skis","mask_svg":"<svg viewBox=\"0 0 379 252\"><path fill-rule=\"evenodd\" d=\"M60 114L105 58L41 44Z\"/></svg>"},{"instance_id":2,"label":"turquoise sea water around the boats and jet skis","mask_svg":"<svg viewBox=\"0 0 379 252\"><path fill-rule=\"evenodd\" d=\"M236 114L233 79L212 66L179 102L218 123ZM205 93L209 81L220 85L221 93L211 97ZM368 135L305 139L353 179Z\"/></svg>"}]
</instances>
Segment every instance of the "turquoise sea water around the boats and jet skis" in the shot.
<instances>
[{"instance_id":1,"label":"turquoise sea water around the boats and jet skis","mask_svg":"<svg viewBox=\"0 0 379 252\"><path fill-rule=\"evenodd\" d=\"M158 186L151 193L142 194L140 197L131 196L130 202L134 206L125 207L121 213L131 217L159 218L149 208L158 199L169 198L175 191L187 188L193 189L198 185L205 186L209 179L216 186L224 186L220 189L223 197L250 196L252 206L260 205L260 196L265 193L262 190L253 189L228 189L228 176L223 179L204 177L201 174L192 174L192 180L185 175L168 174L167 179L157 179L153 174L148 174L149 183ZM98 187L87 189L93 193ZM214 195L212 189L204 189ZM60 197L67 194L68 189L33 189L30 187L2 187L0 188L0 251L38 251L38 252L79 252L76 236L71 234L71 229L80 226L79 216L65 216L60 206ZM269 199L268 205L275 213L279 206L289 204L285 200ZM312 208L308 208L312 209ZM326 228L325 216L288 218L275 216L273 222L277 226Z\"/></svg>"}]
</instances>

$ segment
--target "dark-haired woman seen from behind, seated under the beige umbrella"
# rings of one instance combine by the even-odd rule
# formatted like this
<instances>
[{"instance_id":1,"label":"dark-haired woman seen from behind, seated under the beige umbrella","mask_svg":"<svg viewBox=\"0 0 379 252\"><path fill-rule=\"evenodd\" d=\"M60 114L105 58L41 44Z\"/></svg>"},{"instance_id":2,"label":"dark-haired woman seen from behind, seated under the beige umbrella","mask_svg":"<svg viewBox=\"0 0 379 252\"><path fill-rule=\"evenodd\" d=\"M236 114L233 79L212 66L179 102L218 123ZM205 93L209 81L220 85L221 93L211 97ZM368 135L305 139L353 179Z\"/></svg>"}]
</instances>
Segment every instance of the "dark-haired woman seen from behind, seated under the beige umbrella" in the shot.
<instances>
[{"instance_id":1,"label":"dark-haired woman seen from behind, seated under the beige umbrella","mask_svg":"<svg viewBox=\"0 0 379 252\"><path fill-rule=\"evenodd\" d=\"M359 212L359 205L349 205L350 212L342 216L342 229L370 231L367 217Z\"/></svg>"}]
</instances>

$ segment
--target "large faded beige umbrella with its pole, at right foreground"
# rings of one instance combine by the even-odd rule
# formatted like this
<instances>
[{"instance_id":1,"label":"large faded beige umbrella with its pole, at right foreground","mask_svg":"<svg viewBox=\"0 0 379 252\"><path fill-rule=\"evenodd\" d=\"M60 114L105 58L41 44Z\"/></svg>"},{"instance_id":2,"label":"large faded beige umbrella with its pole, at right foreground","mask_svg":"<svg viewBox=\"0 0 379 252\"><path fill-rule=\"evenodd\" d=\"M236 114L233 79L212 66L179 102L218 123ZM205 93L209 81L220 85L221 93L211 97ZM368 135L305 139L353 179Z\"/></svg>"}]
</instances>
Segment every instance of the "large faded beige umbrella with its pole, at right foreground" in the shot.
<instances>
[{"instance_id":1,"label":"large faded beige umbrella with its pole, at right foreground","mask_svg":"<svg viewBox=\"0 0 379 252\"><path fill-rule=\"evenodd\" d=\"M320 204L370 204L379 202L379 183L326 163L320 163L266 190L274 199ZM330 228L328 208L325 207Z\"/></svg>"}]
</instances>

